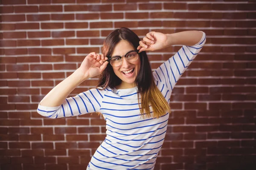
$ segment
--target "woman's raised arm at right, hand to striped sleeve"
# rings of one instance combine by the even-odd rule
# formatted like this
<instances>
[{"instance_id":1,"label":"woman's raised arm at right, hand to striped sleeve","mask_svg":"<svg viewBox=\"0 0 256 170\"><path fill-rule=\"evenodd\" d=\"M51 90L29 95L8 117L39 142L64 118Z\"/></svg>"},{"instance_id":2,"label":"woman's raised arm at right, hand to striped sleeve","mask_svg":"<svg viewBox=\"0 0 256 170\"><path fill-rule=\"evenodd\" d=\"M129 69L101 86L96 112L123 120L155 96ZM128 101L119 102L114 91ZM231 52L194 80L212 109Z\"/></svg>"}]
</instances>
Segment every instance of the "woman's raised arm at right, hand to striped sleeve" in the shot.
<instances>
[{"instance_id":1,"label":"woman's raised arm at right, hand to striped sleeve","mask_svg":"<svg viewBox=\"0 0 256 170\"><path fill-rule=\"evenodd\" d=\"M152 38L154 39L153 44L150 42ZM153 72L154 79L163 82L172 91L178 79L201 51L205 41L206 36L202 31L183 31L174 34L150 32L147 37L143 38L138 48L140 51L155 51L171 45L183 45L175 55Z\"/></svg>"}]
</instances>

